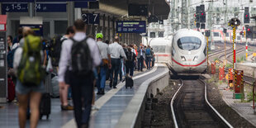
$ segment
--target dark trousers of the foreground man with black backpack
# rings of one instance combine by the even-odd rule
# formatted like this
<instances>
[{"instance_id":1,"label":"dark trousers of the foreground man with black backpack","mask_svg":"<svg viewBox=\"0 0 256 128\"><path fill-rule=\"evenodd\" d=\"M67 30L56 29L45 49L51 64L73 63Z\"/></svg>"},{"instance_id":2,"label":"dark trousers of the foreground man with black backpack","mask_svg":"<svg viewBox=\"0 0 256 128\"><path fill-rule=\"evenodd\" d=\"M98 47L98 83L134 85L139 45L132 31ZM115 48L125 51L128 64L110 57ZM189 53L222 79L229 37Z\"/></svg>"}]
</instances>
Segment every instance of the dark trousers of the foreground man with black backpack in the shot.
<instances>
[{"instance_id":1,"label":"dark trousers of the foreground man with black backpack","mask_svg":"<svg viewBox=\"0 0 256 128\"><path fill-rule=\"evenodd\" d=\"M73 95L74 117L78 128L80 128L85 124L88 125L90 120L92 108L93 73L90 73L88 76L83 78L78 78L74 73L71 73L70 86Z\"/></svg>"}]
</instances>

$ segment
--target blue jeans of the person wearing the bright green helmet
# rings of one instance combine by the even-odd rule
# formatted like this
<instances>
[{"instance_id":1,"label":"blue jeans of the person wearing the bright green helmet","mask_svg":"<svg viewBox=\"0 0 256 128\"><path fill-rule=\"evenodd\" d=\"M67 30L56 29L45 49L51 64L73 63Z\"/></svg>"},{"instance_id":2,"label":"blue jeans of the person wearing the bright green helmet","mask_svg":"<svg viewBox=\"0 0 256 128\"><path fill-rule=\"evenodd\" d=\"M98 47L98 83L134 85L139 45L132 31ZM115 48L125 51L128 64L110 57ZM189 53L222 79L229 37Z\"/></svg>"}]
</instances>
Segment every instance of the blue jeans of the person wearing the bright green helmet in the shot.
<instances>
[{"instance_id":1,"label":"blue jeans of the person wearing the bright green helmet","mask_svg":"<svg viewBox=\"0 0 256 128\"><path fill-rule=\"evenodd\" d=\"M105 88L106 74L107 74L107 66L101 66L100 73L98 74L98 78L97 78L97 92Z\"/></svg>"}]
</instances>

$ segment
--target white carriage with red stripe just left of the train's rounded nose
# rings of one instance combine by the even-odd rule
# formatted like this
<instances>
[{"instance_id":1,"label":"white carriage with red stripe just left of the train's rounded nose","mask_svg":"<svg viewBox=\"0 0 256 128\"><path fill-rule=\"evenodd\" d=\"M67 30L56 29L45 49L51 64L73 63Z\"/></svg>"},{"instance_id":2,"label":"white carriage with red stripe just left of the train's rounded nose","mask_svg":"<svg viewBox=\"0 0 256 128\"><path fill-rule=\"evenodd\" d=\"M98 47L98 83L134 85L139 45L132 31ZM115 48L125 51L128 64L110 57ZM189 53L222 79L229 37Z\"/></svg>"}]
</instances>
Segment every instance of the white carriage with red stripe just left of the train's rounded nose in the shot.
<instances>
[{"instance_id":1,"label":"white carriage with red stripe just left of the train's rounded nose","mask_svg":"<svg viewBox=\"0 0 256 128\"><path fill-rule=\"evenodd\" d=\"M169 38L153 38L149 41L149 45L153 48L155 62L168 63L171 60L172 44Z\"/></svg>"}]
</instances>

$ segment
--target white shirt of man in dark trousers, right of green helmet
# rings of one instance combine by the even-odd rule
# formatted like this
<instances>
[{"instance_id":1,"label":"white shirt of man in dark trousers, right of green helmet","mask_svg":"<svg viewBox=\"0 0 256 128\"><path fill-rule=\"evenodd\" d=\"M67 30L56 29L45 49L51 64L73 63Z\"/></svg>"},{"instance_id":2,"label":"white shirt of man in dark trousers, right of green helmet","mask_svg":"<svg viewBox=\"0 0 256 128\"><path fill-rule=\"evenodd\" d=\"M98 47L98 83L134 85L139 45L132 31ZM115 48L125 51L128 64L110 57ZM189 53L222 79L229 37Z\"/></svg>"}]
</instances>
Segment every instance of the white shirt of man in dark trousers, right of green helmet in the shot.
<instances>
[{"instance_id":1,"label":"white shirt of man in dark trousers, right of green helmet","mask_svg":"<svg viewBox=\"0 0 256 128\"><path fill-rule=\"evenodd\" d=\"M123 47L119 45L117 42L114 42L111 45L109 45L109 50L111 59L120 59L120 56L126 59L126 54Z\"/></svg>"}]
</instances>

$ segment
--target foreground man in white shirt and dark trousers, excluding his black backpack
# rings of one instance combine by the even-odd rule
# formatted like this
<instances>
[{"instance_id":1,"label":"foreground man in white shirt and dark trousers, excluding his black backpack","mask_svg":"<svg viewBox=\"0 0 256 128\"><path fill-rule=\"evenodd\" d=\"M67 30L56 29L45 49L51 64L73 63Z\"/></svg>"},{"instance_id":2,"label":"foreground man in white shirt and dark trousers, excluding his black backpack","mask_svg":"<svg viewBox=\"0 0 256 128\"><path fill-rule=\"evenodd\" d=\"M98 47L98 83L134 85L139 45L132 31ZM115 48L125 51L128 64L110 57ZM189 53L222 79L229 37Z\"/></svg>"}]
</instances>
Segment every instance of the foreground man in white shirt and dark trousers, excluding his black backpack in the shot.
<instances>
[{"instance_id":1,"label":"foreground man in white shirt and dark trousers, excluding his black backpack","mask_svg":"<svg viewBox=\"0 0 256 128\"><path fill-rule=\"evenodd\" d=\"M82 20L79 19L74 22L73 30L75 31L73 40L83 41L86 39L85 24ZM64 75L66 70L69 70L70 86L72 88L73 94L73 108L75 121L77 122L78 127L88 127L92 107L93 73L87 73L86 76L80 76L76 72L73 72L72 66L69 66L69 69L67 69L68 65L73 65L71 62L73 40L64 40L62 44L58 73L59 88L63 88L65 86ZM89 53L92 58L93 69L97 67L99 64L101 64L102 58L97 48L95 40L88 38L86 40L86 43L88 45L88 50L90 50ZM92 69L89 70L91 70L92 72ZM82 107L84 109L82 109Z\"/></svg>"}]
</instances>

